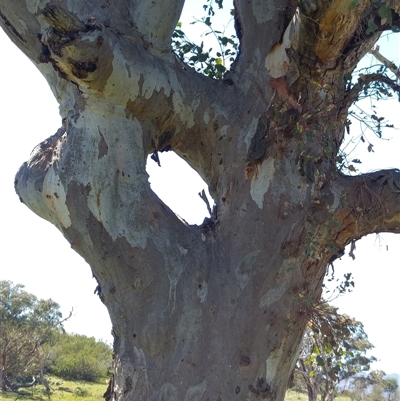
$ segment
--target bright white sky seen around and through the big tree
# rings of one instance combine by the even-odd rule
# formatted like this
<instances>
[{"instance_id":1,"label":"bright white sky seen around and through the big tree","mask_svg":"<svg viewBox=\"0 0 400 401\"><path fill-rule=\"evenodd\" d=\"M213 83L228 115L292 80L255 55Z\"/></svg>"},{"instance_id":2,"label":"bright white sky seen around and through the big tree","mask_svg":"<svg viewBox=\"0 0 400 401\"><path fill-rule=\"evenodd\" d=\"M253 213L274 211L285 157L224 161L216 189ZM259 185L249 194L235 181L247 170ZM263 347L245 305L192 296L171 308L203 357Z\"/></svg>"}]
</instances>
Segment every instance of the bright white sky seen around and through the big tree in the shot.
<instances>
[{"instance_id":1,"label":"bright white sky seen around and through the big tree","mask_svg":"<svg viewBox=\"0 0 400 401\"><path fill-rule=\"evenodd\" d=\"M192 4L182 21L202 15L201 4L197 3L199 11ZM186 27L189 23L184 25L185 31ZM380 43L382 53L397 65L400 64L398 36L392 35L390 41L383 39ZM68 331L111 343L111 324L105 307L93 293L96 283L89 266L69 248L54 226L34 215L14 193L13 181L19 166L28 160L39 142L56 132L60 117L58 105L43 77L1 29L0 49L0 133L3 143L0 159L3 226L0 280L24 284L27 291L39 298L54 299L64 314L73 308L73 317L65 324ZM380 103L380 110L386 113L390 122L400 127L399 102ZM353 132L356 128L356 124L353 125ZM352 154L352 158L362 159L363 171L400 168L400 131L390 130L384 136L390 141L369 135L375 153L366 152L364 146ZM174 158L171 152L161 154L161 163L162 168L154 162L148 167L153 188L179 215L190 223L200 224L206 215L206 207L197 193L205 188L205 184L185 170L185 163ZM179 196L174 196L177 194ZM355 290L335 304L340 306L342 313L364 323L369 339L375 345L373 355L380 360L373 368L400 373L400 235L364 238L357 242L355 255L355 261L345 256L335 263L336 277L351 271L356 282Z\"/></svg>"}]
</instances>

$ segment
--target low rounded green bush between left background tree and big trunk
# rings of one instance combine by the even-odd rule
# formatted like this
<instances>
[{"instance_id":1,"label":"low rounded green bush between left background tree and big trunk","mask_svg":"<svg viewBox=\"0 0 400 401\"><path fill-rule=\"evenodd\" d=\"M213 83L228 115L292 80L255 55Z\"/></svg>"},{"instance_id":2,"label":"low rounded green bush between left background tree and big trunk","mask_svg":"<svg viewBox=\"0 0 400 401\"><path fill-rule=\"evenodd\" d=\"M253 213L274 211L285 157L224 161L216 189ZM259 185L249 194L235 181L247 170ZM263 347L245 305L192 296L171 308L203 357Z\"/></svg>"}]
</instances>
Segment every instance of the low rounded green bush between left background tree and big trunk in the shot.
<instances>
[{"instance_id":1,"label":"low rounded green bush between left background tree and big trunk","mask_svg":"<svg viewBox=\"0 0 400 401\"><path fill-rule=\"evenodd\" d=\"M111 349L94 337L59 333L50 353L49 369L59 377L95 382L110 374Z\"/></svg>"}]
</instances>

